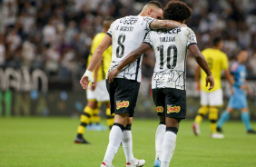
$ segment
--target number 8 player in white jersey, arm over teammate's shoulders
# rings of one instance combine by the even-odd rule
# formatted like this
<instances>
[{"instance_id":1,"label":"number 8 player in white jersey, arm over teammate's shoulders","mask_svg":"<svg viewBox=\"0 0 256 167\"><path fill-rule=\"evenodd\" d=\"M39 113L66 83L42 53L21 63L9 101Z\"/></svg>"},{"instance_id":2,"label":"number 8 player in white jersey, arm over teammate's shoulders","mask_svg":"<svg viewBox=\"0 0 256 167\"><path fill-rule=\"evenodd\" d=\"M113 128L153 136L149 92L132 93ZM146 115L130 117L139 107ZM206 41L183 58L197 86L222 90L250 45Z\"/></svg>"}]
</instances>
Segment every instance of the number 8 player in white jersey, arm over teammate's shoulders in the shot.
<instances>
[{"instance_id":1,"label":"number 8 player in white jersey, arm over teammate's shoulders","mask_svg":"<svg viewBox=\"0 0 256 167\"><path fill-rule=\"evenodd\" d=\"M155 19L162 19L162 6L157 2L151 1L143 7L140 15L126 16L114 21L103 38L102 43L95 50L93 58L84 76L81 78L80 83L84 89L87 89L89 82L94 82L92 76L94 66L101 59L104 50L111 44L113 55L110 70L120 64L127 54L138 48L143 43L145 34L151 29L170 29L185 26L177 22ZM141 64L141 59L137 60L125 68L123 73L119 74L113 83L106 82L108 92L110 93L111 112L115 113L115 115L102 167L113 166L113 157L121 142L126 157L126 167L143 166L145 163L144 160L139 161L133 157L131 133L133 113L141 82Z\"/></svg>"}]
</instances>

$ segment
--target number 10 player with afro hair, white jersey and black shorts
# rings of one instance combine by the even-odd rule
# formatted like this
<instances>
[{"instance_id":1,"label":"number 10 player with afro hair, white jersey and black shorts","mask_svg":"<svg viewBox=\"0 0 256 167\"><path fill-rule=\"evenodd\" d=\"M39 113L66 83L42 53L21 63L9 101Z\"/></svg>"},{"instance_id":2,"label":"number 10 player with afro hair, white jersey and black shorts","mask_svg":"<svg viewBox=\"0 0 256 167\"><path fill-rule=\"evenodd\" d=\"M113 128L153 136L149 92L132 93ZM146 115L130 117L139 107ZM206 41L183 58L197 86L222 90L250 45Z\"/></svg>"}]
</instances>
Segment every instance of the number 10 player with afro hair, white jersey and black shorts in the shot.
<instances>
[{"instance_id":1,"label":"number 10 player with afro hair, white jersey and black shorts","mask_svg":"<svg viewBox=\"0 0 256 167\"><path fill-rule=\"evenodd\" d=\"M180 1L170 1L163 10L164 19L172 19L182 24L191 15L192 9ZM162 147L162 151L156 152L158 157L154 166L160 166L161 161L161 167L168 167L175 149L179 123L186 116L187 49L191 51L197 64L207 74L206 83L210 83L209 89L213 88L214 80L197 46L196 36L192 29L178 27L172 30L151 31L147 34L143 44L127 55L112 72L109 72L108 81L114 82L116 77L127 68L126 65L140 60L141 55L150 48L153 48L156 56L152 79L153 101L161 121L165 120L166 123L166 129L156 133L162 136L162 139L161 137L158 139L158 147Z\"/></svg>"}]
</instances>

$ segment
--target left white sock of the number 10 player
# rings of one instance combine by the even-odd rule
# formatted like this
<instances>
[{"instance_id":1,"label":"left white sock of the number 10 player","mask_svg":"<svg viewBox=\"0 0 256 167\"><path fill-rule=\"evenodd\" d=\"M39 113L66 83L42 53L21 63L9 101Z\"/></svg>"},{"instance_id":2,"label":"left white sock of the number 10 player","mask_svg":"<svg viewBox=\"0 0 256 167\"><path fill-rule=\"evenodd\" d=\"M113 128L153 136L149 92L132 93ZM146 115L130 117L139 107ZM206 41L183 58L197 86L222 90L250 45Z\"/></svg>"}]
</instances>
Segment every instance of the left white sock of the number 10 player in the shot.
<instances>
[{"instance_id":1,"label":"left white sock of the number 10 player","mask_svg":"<svg viewBox=\"0 0 256 167\"><path fill-rule=\"evenodd\" d=\"M162 154L162 141L165 135L166 125L159 124L156 132L155 132L155 159L161 159Z\"/></svg>"}]
</instances>

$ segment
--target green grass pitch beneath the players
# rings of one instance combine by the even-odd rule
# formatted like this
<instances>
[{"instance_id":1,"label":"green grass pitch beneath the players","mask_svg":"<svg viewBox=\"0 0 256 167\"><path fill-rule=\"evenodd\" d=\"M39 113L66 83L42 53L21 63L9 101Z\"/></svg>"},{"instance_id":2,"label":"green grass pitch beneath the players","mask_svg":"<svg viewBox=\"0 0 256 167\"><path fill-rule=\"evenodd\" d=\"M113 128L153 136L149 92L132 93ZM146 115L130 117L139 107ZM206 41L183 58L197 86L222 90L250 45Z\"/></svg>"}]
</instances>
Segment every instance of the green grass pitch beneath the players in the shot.
<instances>
[{"instance_id":1,"label":"green grass pitch beneath the players","mask_svg":"<svg viewBox=\"0 0 256 167\"><path fill-rule=\"evenodd\" d=\"M105 120L102 121L106 124ZM99 167L108 143L108 131L85 132L91 145L74 144L79 119L0 118L1 167ZM133 154L153 167L154 133L158 120L133 122ZM256 123L252 123L255 128ZM192 133L192 120L182 121L170 166L173 167L255 167L256 135L245 133L240 121L224 125L224 139L209 137L209 123L202 122L202 135ZM124 167L123 148L113 159Z\"/></svg>"}]
</instances>

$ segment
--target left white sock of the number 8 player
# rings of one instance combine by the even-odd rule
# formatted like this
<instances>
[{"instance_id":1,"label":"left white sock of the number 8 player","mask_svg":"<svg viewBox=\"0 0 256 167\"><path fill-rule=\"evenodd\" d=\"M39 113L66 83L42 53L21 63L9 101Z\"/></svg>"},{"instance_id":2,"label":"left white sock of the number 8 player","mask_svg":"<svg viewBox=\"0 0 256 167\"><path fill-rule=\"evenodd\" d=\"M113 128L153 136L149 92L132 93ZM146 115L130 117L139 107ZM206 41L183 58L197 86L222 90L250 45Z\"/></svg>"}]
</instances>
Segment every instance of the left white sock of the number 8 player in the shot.
<instances>
[{"instance_id":1,"label":"left white sock of the number 8 player","mask_svg":"<svg viewBox=\"0 0 256 167\"><path fill-rule=\"evenodd\" d=\"M109 133L109 142L107 146L107 150L105 152L103 162L107 163L107 165L112 164L114 154L118 151L118 148L123 139L123 131L117 126L113 125L110 133Z\"/></svg>"}]
</instances>

